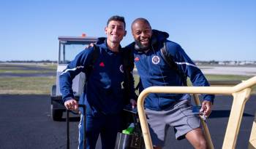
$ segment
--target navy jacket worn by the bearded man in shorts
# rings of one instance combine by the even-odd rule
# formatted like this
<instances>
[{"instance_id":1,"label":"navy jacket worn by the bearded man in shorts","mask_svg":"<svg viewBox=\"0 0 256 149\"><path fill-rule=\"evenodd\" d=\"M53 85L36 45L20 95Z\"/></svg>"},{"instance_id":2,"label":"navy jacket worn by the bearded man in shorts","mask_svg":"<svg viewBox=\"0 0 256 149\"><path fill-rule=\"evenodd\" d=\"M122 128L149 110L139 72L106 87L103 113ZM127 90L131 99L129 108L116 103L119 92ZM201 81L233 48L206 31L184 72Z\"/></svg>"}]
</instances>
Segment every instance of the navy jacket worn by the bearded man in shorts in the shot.
<instances>
[{"instance_id":1,"label":"navy jacket worn by the bearded man in shorts","mask_svg":"<svg viewBox=\"0 0 256 149\"><path fill-rule=\"evenodd\" d=\"M170 68L163 59L160 49L166 42L167 53L172 55L178 69L189 76L193 86L209 86L206 77L192 60L184 52L180 45L168 41L169 35L162 31L153 30L151 48L148 52L135 49L135 42L129 44L126 49L134 52L135 65L141 79L140 92L149 86L183 86L181 76L175 69ZM145 100L145 107L151 110L164 110L170 108L178 100L189 99L189 94L149 94ZM213 102L214 95L206 94L203 100Z\"/></svg>"}]
</instances>

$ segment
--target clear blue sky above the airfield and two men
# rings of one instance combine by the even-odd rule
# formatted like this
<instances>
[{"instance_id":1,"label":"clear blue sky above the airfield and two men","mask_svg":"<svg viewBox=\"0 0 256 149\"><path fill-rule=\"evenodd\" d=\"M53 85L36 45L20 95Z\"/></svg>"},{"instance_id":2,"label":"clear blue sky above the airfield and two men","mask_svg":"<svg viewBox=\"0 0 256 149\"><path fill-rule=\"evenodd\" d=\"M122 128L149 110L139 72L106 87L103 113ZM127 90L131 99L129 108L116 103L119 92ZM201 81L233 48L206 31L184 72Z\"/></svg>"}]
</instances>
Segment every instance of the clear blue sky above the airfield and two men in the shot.
<instances>
[{"instance_id":1,"label":"clear blue sky above the airfield and two men","mask_svg":"<svg viewBox=\"0 0 256 149\"><path fill-rule=\"evenodd\" d=\"M256 1L0 0L0 60L56 60L58 36L105 36L109 17L145 17L192 60L256 60Z\"/></svg>"}]
</instances>

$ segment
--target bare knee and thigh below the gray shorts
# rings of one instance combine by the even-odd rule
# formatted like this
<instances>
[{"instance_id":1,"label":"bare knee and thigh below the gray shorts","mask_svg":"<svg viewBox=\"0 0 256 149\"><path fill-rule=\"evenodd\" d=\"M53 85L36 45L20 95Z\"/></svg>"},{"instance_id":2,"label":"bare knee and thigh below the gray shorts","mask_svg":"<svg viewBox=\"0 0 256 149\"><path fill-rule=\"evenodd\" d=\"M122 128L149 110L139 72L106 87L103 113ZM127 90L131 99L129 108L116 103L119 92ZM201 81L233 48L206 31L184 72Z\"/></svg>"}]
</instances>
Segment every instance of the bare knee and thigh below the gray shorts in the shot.
<instances>
[{"instance_id":1,"label":"bare knee and thigh below the gray shorts","mask_svg":"<svg viewBox=\"0 0 256 149\"><path fill-rule=\"evenodd\" d=\"M185 137L187 138L187 140L189 140L194 148L207 148L206 139L203 135L202 129L193 129L192 131L188 132Z\"/></svg>"}]
</instances>

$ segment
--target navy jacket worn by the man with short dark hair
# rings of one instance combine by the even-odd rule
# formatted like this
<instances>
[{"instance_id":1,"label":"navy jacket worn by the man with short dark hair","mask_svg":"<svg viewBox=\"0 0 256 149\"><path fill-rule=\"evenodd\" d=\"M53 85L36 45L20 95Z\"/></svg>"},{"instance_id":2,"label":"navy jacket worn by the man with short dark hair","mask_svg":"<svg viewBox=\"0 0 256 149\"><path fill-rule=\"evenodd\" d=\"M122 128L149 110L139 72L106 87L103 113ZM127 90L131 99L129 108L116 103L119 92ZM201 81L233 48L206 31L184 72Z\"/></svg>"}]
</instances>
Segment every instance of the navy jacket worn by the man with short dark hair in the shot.
<instances>
[{"instance_id":1,"label":"navy jacket worn by the man with short dark hair","mask_svg":"<svg viewBox=\"0 0 256 149\"><path fill-rule=\"evenodd\" d=\"M93 64L93 70L84 86L80 104L86 102L87 109L92 113L117 114L124 107L122 83L124 82L123 60L121 52L112 52L103 44L97 44L99 55ZM119 48L121 49L121 47ZM72 60L59 77L63 101L74 97L72 79L78 73L88 73L86 69L91 65L94 49L84 49L75 60ZM88 111L88 110L86 110Z\"/></svg>"}]
</instances>

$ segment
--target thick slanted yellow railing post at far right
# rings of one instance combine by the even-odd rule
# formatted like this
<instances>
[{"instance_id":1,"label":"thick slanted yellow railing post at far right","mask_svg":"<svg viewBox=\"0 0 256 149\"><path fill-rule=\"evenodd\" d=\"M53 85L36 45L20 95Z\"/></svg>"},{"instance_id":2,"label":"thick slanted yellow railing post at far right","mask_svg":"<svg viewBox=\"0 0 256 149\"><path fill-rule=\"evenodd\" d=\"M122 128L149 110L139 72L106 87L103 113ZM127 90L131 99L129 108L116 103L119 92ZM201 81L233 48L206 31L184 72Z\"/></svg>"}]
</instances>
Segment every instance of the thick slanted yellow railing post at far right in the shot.
<instances>
[{"instance_id":1,"label":"thick slanted yellow railing post at far right","mask_svg":"<svg viewBox=\"0 0 256 149\"><path fill-rule=\"evenodd\" d=\"M236 148L236 140L244 113L244 105L249 99L251 88L246 88L241 92L233 93L233 104L230 111L230 118L227 123L227 130L224 137L222 149Z\"/></svg>"}]
</instances>

